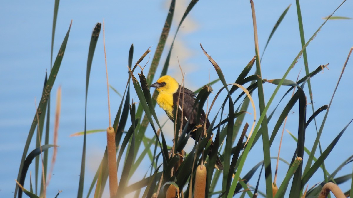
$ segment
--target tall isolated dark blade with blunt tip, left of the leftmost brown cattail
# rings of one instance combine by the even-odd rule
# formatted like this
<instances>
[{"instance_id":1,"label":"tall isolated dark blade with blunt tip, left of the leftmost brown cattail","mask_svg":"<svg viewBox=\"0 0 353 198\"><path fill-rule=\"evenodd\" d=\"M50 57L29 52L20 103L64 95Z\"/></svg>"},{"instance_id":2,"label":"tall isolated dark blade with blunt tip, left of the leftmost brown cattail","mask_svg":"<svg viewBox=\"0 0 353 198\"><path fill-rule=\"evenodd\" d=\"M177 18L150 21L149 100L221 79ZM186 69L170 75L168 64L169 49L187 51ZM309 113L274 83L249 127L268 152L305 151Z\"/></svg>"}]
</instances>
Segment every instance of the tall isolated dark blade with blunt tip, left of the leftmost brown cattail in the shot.
<instances>
[{"instance_id":1,"label":"tall isolated dark blade with blunt tip, left of the leftmost brown cattail","mask_svg":"<svg viewBox=\"0 0 353 198\"><path fill-rule=\"evenodd\" d=\"M87 71L86 71L86 95L85 95L85 124L84 124L84 137L83 137L83 149L82 149L82 160L81 160L81 171L80 171L80 179L78 184L78 192L77 197L82 198L83 196L83 184L85 178L85 164L86 164L86 122L87 122L87 96L88 96L88 84L89 84L89 77L91 73L91 66L94 51L96 49L99 33L101 32L101 23L97 23L95 28L93 29L91 41L88 50L88 57L87 57Z\"/></svg>"}]
</instances>

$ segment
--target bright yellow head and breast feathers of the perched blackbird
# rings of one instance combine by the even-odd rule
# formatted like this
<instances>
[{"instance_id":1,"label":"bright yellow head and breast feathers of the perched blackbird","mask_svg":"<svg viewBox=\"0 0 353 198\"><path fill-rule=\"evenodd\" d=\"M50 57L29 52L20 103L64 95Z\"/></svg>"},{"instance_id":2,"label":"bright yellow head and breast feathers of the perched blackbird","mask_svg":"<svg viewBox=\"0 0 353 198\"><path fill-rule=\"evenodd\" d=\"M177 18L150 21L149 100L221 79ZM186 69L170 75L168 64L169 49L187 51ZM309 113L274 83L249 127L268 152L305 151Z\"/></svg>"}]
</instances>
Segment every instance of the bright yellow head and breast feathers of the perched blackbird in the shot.
<instances>
[{"instance_id":1,"label":"bright yellow head and breast feathers of the perched blackbird","mask_svg":"<svg viewBox=\"0 0 353 198\"><path fill-rule=\"evenodd\" d=\"M164 86L156 88L159 92L157 104L166 111L170 118L173 118L173 94L178 91L179 83L171 76L162 76L157 82L165 82Z\"/></svg>"}]
</instances>

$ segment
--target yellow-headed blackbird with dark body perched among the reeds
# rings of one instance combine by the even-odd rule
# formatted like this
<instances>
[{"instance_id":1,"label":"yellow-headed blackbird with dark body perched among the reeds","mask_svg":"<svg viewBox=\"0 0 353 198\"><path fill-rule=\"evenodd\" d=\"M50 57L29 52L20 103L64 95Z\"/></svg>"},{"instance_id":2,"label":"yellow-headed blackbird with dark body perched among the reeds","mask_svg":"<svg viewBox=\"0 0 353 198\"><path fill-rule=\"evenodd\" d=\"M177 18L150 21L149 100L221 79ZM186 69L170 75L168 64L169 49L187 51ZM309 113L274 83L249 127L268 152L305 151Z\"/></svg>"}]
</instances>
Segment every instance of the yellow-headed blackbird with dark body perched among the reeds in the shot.
<instances>
[{"instance_id":1,"label":"yellow-headed blackbird with dark body perched among the reeds","mask_svg":"<svg viewBox=\"0 0 353 198\"><path fill-rule=\"evenodd\" d=\"M193 110L193 106L196 101L196 94L190 91L187 88L181 87L179 83L172 78L171 76L162 76L157 80L156 83L152 84L151 87L155 87L159 92L157 96L157 104L166 111L168 117L174 122L173 110L175 108L179 108L179 111L183 111L183 129L186 123L189 121L187 125L187 131L190 132L197 124L204 124L206 121L206 129L210 126L209 120L206 118L205 112L201 110L201 116L198 123L196 123L197 117L197 106L196 109ZM181 93L179 94L179 91ZM183 101L183 93L184 93L184 101ZM179 105L178 103L179 98ZM184 105L184 106L183 106ZM183 108L181 108L183 106ZM178 114L181 116L181 114ZM206 119L206 120L205 120ZM195 133L191 133L190 137L195 139ZM211 148L209 155L211 153L211 149L213 146L213 141L211 142ZM216 161L217 168L223 169L223 165L219 157L217 156Z\"/></svg>"}]
</instances>

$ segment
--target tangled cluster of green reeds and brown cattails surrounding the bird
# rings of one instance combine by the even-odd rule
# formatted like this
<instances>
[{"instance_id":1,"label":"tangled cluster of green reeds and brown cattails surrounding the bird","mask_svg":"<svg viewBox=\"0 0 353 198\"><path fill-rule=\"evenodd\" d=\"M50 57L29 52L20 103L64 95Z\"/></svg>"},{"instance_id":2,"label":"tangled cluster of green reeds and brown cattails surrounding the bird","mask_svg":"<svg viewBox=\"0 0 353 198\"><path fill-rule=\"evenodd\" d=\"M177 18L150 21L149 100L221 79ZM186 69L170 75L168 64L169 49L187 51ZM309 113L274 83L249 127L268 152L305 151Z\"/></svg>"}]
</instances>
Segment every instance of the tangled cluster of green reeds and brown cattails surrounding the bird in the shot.
<instances>
[{"instance_id":1,"label":"tangled cluster of green reeds and brown cattails surrounding the bird","mask_svg":"<svg viewBox=\"0 0 353 198\"><path fill-rule=\"evenodd\" d=\"M344 2L344 1L343 1ZM310 71L309 68L305 68L306 74L303 78L298 80L286 79L289 71L293 68L294 64L298 61L300 56L303 56L305 65L307 66L306 58L306 47L316 36L316 34L321 30L321 27L329 20L328 17L324 23L317 29L317 31L312 35L310 39L305 43L304 31L300 16L300 5L297 1L297 11L299 20L299 30L301 32L301 44L302 49L295 56L292 64L288 66L288 69L281 79L267 80L263 79L261 75L261 62L258 49L258 39L257 39L257 26L256 26L256 16L255 16L255 6L252 1L250 5L253 14L253 30L254 30L254 41L255 41L255 56L249 63L244 64L243 70L239 73L237 77L234 76L234 81L226 82L224 75L222 73L222 67L220 67L216 61L213 60L211 55L209 55L206 50L203 50L205 56L209 59L210 64L215 68L214 72L217 73L219 79L216 79L209 84L201 87L196 91L197 103L199 108L203 108L206 103L209 94L211 93L208 88L209 85L220 82L222 83L222 88L220 90L214 90L216 93L215 98L211 102L208 108L207 114L213 111L216 112L216 116L213 118L209 117L211 122L211 127L206 131L206 135L200 137L200 140L195 142L195 147L185 154L184 147L187 140L189 139L189 134L185 129L180 128L180 122L175 122L174 124L174 141L167 142L163 133L163 124L159 122L158 117L155 112L156 107L156 96L157 92L154 91L151 95L149 85L155 79L157 67L163 67L160 76L166 75L169 67L169 60L171 51L173 49L173 44L175 37L184 19L187 17L189 12L192 10L193 6L197 1L191 1L187 9L185 10L184 16L181 19L178 29L175 33L172 46L169 49L166 62L164 64L160 63L162 52L166 44L166 39L169 35L170 26L172 23L172 18L174 14L175 0L171 1L170 9L167 14L167 18L162 29L161 37L157 45L152 63L150 64L149 71L147 73L147 78L144 75L143 68L140 63L145 61L146 55L149 54L150 49L133 64L133 45L131 45L129 56L128 56L128 80L125 86L125 92L122 95L119 110L116 112L113 124L109 124L107 129L107 148L103 154L101 163L95 177L92 178L91 186L89 189L83 189L83 182L85 180L85 156L86 156L86 135L88 130L83 132L83 152L82 152L82 167L78 187L79 198L86 194L87 197L93 194L94 197L102 197L104 187L107 185L109 178L109 189L110 197L124 197L127 194L134 197L257 197L259 194L264 197L312 197L318 196L322 187L323 193L327 194L327 189L336 189L336 186L331 185L329 182L334 182L340 184L345 181L352 181L352 174L346 175L346 177L337 178L337 172L345 166L347 163L352 161L351 156L349 159L344 161L341 165L337 167L337 170L333 173L329 173L324 166L325 159L330 154L330 151L336 146L343 132L345 132L346 127L342 127L339 135L337 135L329 144L327 148L320 150L320 156L316 158L314 154L317 151L317 146L320 142L320 137L324 128L325 120L329 112L331 102L328 105L324 105L320 108L314 108L313 103L312 112L307 110L307 98L312 101L311 87L309 86L310 96L307 97L303 89L310 85L310 80L315 79L317 73L319 73L325 66L318 66L315 70ZM276 26L271 32L267 44L269 43L273 33L276 31L278 25L280 25L282 19L286 16L289 9L283 12ZM55 7L55 12L57 13L57 7ZM335 11L334 11L335 12ZM330 15L331 16L331 15ZM56 20L56 15L54 14L54 21ZM54 23L55 24L55 23ZM54 25L55 26L55 25ZM71 25L70 25L71 27ZM55 28L53 28L53 31ZM98 37L101 31L101 24L98 23L92 32L91 43L89 48L88 62L87 62L87 76L86 76L86 101L87 101L87 90L89 85L90 69L92 65L92 59L95 51L95 47L98 41ZM49 78L46 80L43 90L43 96L37 107L37 111L34 117L34 121L31 125L31 129L28 135L28 140L25 144L24 153L22 156L22 162L20 164L19 174L18 174L18 185L16 184L15 197L18 192L19 197L22 196L21 191L17 191L18 187L23 190L29 197L39 197L33 193L32 183L30 180L30 190L24 188L24 181L27 175L27 169L31 161L35 156L40 155L43 151L53 147L50 145L48 140L45 140L44 145L40 146L42 143L40 138L42 137L44 118L46 112L49 110L49 95L53 83L55 81L56 74L59 71L61 60L64 56L66 44L68 42L68 36L70 33L70 28L67 32L64 41L62 42L61 48L59 50L58 56L53 64L53 68L50 72ZM348 55L348 58L350 56ZM347 61L348 61L347 58ZM346 64L347 64L346 61ZM343 70L346 66L343 66ZM253 67L255 66L255 67ZM138 69L138 74L136 72ZM251 71L254 74L250 74ZM342 72L343 74L343 72ZM341 74L341 75L342 75ZM108 80L108 73L107 73ZM230 83L230 84L229 84ZM267 103L264 100L265 90L263 88L263 83L272 83L276 88L271 94L270 99ZM339 81L337 83L337 86ZM288 91L285 95L278 95L279 89L287 89ZM108 87L109 91L109 87ZM253 92L258 93L257 98L252 98ZM134 92L138 96L138 104L131 103L131 92ZM226 93L225 98L220 98L220 93ZM238 94L238 95L237 95ZM287 94L292 94L287 102L285 102L285 96ZM333 96L332 96L333 97ZM285 108L280 110L272 108L273 111L270 112L270 106L273 105L274 98L282 98L279 103L286 103ZM217 109L214 105L215 101L220 102L222 105ZM332 100L331 100L332 101ZM250 105L251 104L251 105ZM298 127L297 137L293 136L293 139L297 141L296 148L293 149L292 153L286 153L286 155L293 156L292 160L287 162L279 157L277 159L277 166L271 163L273 156L276 154L270 153L271 145L277 135L281 126L283 125L283 131L285 130L285 123L287 115L291 112L293 106L298 104L299 106L299 116L298 120L295 121ZM259 112L256 112L256 105L258 105ZM273 113L275 111L281 111L280 117L275 120L275 127L270 129L268 123L271 118L273 121ZM251 120L245 120L245 113L251 112L254 116ZM322 123L315 123L318 125L317 138L312 146L312 149L307 149L305 144L305 129L309 124L314 124L311 121L321 113L326 113ZM48 115L48 114L47 114ZM109 110L110 115L110 110ZM258 116L257 116L258 115ZM310 115L307 118L307 115ZM109 118L110 119L110 118ZM131 120L131 125L128 125L127 120ZM248 124L249 123L249 124ZM249 125L251 127L249 127ZM38 127L37 127L38 126ZM49 124L47 124L47 127ZM86 125L85 125L86 126ZM29 155L28 149L30 142L32 141L35 129L38 129L38 141L37 149L32 151ZM204 128L200 127L195 129L196 134L204 134ZM154 132L155 136L153 138L147 138L145 136L146 132ZM210 138L214 136L214 145L212 148L212 153L210 157L203 157L203 153L208 153L210 149ZM48 134L46 134L48 137ZM254 161L248 154L253 146L261 142L263 149L258 151L263 153L263 160ZM54 142L55 144L55 142ZM280 150L280 149L279 149ZM138 153L140 153L138 155ZM125 158L123 158L125 154ZM43 163L43 179L42 187L40 191L40 196L45 197L45 184L47 180L47 154L44 154ZM215 169L215 162L217 155L221 156L221 160L224 165L224 170L219 171ZM305 157L305 166L303 165L303 158ZM280 154L278 153L278 156ZM147 158L150 164L142 164L142 160ZM250 160L253 162L253 167L249 172L244 172L243 168L245 161ZM285 177L281 181L277 181L277 169L278 161L281 160L288 164L285 172ZM40 164L42 164L40 163ZM39 158L36 161L38 166ZM121 165L123 167L121 167ZM121 175L117 175L117 170L122 169ZM38 169L38 168L37 168ZM145 175L139 178L139 181L131 184L134 173L139 169L145 171ZM283 169L283 167L282 167ZM308 181L312 178L313 174L317 171L322 172L323 179L322 183L311 187L309 190L305 189L308 185ZM258 175L255 175L256 171L260 170ZM275 170L275 173L273 172ZM264 174L263 174L264 172ZM49 174L50 175L50 174ZM264 175L261 177L261 175ZM274 177L273 177L274 175ZM273 178L275 178L273 180ZM136 178L134 178L136 180ZM264 182L261 183L264 186L259 186L260 180ZM251 186L250 186L251 184ZM327 187L329 186L329 187ZM333 186L333 187L332 187ZM259 187L263 191L259 191ZM330 188L332 187L332 188ZM37 188L37 187L36 187ZM92 193L94 191L94 193ZM287 193L287 194L286 194ZM341 193L335 191L335 193ZM344 194L352 193L350 191ZM326 196L326 195L324 195ZM336 195L337 196L337 195ZM337 196L339 197L339 196Z\"/></svg>"}]
</instances>

